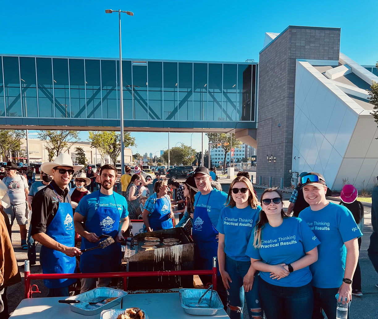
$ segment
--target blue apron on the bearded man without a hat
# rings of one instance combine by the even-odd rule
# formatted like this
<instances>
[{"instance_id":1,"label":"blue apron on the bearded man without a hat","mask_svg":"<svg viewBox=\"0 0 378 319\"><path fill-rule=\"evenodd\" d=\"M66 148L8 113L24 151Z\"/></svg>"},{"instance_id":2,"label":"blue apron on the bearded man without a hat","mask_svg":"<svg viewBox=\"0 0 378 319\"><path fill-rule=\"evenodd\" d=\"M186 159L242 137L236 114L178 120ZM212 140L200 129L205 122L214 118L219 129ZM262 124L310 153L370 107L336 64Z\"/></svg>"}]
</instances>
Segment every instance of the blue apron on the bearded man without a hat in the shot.
<instances>
[{"instance_id":1,"label":"blue apron on the bearded man without a hat","mask_svg":"<svg viewBox=\"0 0 378 319\"><path fill-rule=\"evenodd\" d=\"M85 230L88 233L95 233L97 236L108 235L113 239L118 235L119 229L119 212L116 199L115 207L100 206L100 191L98 192L98 208L95 214L85 222ZM104 240L104 239L101 239ZM90 242L84 237L81 239L81 249L87 249L98 246L98 242ZM115 242L108 247L90 250L80 256L80 271L82 273L105 273L119 271L121 265L121 243Z\"/></svg>"}]
</instances>

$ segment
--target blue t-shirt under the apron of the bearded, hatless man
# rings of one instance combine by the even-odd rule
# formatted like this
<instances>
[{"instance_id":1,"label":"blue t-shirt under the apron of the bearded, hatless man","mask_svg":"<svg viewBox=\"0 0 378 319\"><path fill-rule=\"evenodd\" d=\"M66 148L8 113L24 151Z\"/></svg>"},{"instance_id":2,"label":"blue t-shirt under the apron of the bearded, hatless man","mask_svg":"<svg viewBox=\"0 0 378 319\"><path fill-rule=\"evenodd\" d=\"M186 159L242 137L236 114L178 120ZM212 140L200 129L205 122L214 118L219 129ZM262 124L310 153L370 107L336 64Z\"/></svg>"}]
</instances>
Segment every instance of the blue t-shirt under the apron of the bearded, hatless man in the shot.
<instances>
[{"instance_id":1,"label":"blue t-shirt under the apron of the bearded, hatless man","mask_svg":"<svg viewBox=\"0 0 378 319\"><path fill-rule=\"evenodd\" d=\"M100 201L98 198L99 193ZM119 195L116 192L113 192L113 194L104 195L99 190L96 190L96 192L85 195L79 202L79 205L77 205L75 213L79 213L80 215L86 217L88 221L90 221L93 215L95 215L98 206L105 206L117 207L120 219L129 216L129 211L127 210L127 202L124 196ZM114 199L116 201L114 201Z\"/></svg>"}]
</instances>

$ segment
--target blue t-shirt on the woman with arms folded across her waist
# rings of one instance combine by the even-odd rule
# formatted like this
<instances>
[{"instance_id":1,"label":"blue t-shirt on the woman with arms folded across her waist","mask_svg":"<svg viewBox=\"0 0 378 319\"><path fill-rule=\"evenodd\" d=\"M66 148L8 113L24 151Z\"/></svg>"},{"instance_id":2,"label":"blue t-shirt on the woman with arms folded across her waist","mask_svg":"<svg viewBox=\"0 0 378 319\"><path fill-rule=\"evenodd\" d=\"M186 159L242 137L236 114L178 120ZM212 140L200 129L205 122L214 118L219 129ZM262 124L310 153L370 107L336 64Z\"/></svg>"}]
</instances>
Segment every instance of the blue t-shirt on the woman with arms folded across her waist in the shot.
<instances>
[{"instance_id":1,"label":"blue t-shirt on the woman with arms folded across her waist","mask_svg":"<svg viewBox=\"0 0 378 319\"><path fill-rule=\"evenodd\" d=\"M284 218L281 225L272 227L266 223L261 230L261 246L253 247L254 236L249 240L246 254L253 259L262 259L269 265L291 264L320 244L310 227L300 218ZM282 287L302 287L311 281L307 266L290 273L280 280L270 278L269 272L260 271L260 278L269 284Z\"/></svg>"}]
</instances>

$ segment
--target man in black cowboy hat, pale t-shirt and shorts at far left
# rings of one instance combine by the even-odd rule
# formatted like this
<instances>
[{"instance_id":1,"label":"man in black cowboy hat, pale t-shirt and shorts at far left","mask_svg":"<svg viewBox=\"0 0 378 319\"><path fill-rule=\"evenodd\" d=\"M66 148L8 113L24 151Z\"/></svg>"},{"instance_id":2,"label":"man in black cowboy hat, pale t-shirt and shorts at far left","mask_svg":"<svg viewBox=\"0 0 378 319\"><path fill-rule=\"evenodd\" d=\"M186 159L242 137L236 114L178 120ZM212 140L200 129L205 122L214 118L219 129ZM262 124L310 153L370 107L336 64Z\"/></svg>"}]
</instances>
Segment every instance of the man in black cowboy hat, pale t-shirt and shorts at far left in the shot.
<instances>
[{"instance_id":1,"label":"man in black cowboy hat, pale t-shirt and shorts at far left","mask_svg":"<svg viewBox=\"0 0 378 319\"><path fill-rule=\"evenodd\" d=\"M6 215L8 215L11 228L14 219L16 219L17 224L19 224L21 247L23 250L27 250L26 224L28 224L28 210L26 206L26 199L28 198L29 194L28 181L23 175L17 174L19 167L16 163L8 162L6 165L3 165L3 167L5 167L6 172L6 177L3 178L3 182L5 183L6 187L8 187L8 195L11 199L11 206L4 209L4 211Z\"/></svg>"}]
</instances>

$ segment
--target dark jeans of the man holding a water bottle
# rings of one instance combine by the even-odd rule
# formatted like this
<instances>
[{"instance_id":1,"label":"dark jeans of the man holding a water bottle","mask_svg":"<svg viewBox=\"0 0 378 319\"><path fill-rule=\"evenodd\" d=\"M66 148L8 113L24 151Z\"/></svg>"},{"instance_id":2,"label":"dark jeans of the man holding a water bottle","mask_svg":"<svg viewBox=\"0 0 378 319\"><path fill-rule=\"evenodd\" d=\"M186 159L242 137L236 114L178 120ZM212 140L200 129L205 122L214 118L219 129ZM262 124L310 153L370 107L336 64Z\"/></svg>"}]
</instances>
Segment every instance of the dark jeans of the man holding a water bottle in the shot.
<instances>
[{"instance_id":1,"label":"dark jeans of the man holding a water bottle","mask_svg":"<svg viewBox=\"0 0 378 319\"><path fill-rule=\"evenodd\" d=\"M327 315L328 319L336 319L337 299L336 294L339 288L317 288L312 287L314 291L314 310L312 312L312 319L323 319L322 310ZM348 308L350 306L350 302ZM349 319L349 310L348 310Z\"/></svg>"}]
</instances>

